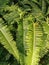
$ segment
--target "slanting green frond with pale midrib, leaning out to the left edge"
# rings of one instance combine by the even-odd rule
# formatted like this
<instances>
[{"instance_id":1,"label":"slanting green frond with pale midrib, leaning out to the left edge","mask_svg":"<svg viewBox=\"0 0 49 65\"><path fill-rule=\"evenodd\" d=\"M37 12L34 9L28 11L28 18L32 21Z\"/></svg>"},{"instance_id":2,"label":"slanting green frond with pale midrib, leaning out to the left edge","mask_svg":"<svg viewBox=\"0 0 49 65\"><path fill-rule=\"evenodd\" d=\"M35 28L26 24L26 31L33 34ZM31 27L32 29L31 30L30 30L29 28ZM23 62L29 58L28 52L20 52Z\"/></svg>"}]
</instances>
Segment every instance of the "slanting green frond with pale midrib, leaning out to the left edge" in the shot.
<instances>
[{"instance_id":1,"label":"slanting green frond with pale midrib, leaning out to the left edge","mask_svg":"<svg viewBox=\"0 0 49 65\"><path fill-rule=\"evenodd\" d=\"M0 23L0 42L1 44L19 61L19 52L16 47L15 41L7 28Z\"/></svg>"}]
</instances>

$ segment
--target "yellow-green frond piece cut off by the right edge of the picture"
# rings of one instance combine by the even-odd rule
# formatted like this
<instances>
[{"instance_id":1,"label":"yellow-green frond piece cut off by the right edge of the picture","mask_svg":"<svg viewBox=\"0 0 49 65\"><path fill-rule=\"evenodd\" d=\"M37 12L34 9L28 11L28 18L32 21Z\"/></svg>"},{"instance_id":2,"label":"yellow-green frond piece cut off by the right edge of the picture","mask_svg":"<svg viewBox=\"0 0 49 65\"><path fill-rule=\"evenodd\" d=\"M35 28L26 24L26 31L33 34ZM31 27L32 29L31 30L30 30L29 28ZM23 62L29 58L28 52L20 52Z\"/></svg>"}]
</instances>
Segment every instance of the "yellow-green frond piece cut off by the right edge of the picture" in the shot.
<instances>
[{"instance_id":1,"label":"yellow-green frond piece cut off by the right edge of the picture","mask_svg":"<svg viewBox=\"0 0 49 65\"><path fill-rule=\"evenodd\" d=\"M49 49L49 24L48 24L48 21L44 21L42 22L42 25L43 25L43 29L44 29L44 32L47 34L47 38L46 38L46 48Z\"/></svg>"}]
</instances>

